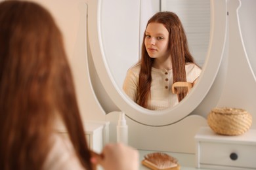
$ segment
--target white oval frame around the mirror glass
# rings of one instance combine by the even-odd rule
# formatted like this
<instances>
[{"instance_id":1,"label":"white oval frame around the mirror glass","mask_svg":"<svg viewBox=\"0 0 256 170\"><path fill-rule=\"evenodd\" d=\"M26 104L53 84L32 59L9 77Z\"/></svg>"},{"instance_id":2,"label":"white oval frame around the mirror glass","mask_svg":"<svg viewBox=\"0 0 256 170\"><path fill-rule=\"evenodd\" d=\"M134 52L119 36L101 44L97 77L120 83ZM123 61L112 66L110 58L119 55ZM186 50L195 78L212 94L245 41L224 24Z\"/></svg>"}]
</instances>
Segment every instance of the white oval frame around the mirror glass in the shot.
<instances>
[{"instance_id":1,"label":"white oval frame around the mirror glass","mask_svg":"<svg viewBox=\"0 0 256 170\"><path fill-rule=\"evenodd\" d=\"M96 71L110 98L129 118L148 126L166 126L188 116L203 101L219 71L226 42L226 0L211 0L209 47L198 83L179 105L159 111L140 107L129 99L114 81L106 62L104 44L102 43L102 29L104 29L101 27L102 18L100 17L102 8L104 8L102 1L106 0L94 0L88 3L88 37Z\"/></svg>"}]
</instances>

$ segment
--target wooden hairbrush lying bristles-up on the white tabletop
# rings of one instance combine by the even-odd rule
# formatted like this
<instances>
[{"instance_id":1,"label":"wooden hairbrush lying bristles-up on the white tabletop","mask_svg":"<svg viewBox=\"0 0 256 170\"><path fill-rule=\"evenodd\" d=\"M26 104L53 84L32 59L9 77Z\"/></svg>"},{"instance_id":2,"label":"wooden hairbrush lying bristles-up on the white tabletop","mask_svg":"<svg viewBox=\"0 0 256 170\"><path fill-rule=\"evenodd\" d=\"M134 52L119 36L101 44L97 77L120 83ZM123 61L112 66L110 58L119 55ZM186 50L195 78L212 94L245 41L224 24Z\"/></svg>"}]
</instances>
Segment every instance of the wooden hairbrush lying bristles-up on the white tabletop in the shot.
<instances>
[{"instance_id":1,"label":"wooden hairbrush lying bristles-up on the white tabletop","mask_svg":"<svg viewBox=\"0 0 256 170\"><path fill-rule=\"evenodd\" d=\"M162 152L152 152L144 156L142 165L152 170L179 170L178 160Z\"/></svg>"}]
</instances>

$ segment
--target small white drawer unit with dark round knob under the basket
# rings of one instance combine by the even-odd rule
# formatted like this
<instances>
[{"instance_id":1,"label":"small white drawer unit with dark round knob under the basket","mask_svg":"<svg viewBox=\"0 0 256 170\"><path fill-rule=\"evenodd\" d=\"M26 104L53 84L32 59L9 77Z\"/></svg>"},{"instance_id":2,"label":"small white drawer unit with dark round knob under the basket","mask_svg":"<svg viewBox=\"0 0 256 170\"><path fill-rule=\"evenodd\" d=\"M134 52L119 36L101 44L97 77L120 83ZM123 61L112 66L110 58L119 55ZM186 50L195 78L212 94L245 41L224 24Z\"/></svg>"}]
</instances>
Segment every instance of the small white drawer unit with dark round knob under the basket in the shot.
<instances>
[{"instance_id":1,"label":"small white drawer unit with dark round knob under the basket","mask_svg":"<svg viewBox=\"0 0 256 170\"><path fill-rule=\"evenodd\" d=\"M217 135L202 127L195 136L196 167L211 169L256 169L256 129L243 135Z\"/></svg>"}]
</instances>

